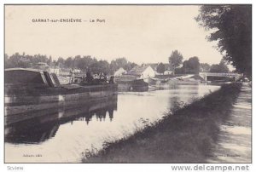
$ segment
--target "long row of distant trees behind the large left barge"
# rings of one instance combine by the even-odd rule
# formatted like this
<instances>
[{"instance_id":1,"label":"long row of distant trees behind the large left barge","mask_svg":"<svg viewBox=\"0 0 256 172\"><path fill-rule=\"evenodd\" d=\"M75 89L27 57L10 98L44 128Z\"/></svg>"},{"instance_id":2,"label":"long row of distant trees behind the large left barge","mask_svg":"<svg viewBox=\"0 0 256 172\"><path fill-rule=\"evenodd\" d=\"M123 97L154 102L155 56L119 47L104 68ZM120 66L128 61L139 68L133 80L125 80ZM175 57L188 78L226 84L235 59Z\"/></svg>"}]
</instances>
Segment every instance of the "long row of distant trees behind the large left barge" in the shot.
<instances>
[{"instance_id":1,"label":"long row of distant trees behind the large left barge","mask_svg":"<svg viewBox=\"0 0 256 172\"><path fill-rule=\"evenodd\" d=\"M36 66L38 62L44 62L51 67L58 66L60 68L80 69L83 72L103 72L105 74L113 74L120 67L123 67L126 71L130 71L131 68L137 66L136 63L126 60L125 57L117 58L109 63L107 60L97 60L95 57L91 57L90 55L76 55L74 57L68 57L66 60L59 57L57 60L52 60L51 56L48 57L44 54L29 55L25 53L15 53L11 56L4 54L5 68L28 68Z\"/></svg>"}]
</instances>

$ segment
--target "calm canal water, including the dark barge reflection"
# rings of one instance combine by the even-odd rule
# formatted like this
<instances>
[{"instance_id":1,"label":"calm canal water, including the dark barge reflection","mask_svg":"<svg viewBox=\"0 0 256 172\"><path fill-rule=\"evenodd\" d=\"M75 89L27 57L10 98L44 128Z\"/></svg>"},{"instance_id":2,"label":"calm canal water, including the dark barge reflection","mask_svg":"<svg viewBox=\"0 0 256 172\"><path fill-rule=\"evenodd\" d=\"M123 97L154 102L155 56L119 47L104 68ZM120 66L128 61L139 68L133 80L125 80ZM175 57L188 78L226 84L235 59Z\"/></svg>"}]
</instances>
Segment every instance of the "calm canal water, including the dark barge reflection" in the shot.
<instances>
[{"instance_id":1,"label":"calm canal water, including the dark barge reflection","mask_svg":"<svg viewBox=\"0 0 256 172\"><path fill-rule=\"evenodd\" d=\"M219 88L199 84L120 92L112 100L43 112L42 118L5 127L5 163L80 163L86 152L132 135Z\"/></svg>"}]
</instances>

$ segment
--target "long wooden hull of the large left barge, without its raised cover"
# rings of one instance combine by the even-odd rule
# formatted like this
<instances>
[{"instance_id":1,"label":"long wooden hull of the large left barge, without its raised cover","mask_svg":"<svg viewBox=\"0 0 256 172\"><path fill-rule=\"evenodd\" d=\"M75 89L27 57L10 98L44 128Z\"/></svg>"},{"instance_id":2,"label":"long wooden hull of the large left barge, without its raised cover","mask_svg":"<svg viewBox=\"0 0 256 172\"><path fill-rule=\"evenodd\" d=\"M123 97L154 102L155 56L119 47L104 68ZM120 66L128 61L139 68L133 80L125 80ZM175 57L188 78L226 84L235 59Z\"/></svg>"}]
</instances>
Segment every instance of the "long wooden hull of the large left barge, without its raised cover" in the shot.
<instances>
[{"instance_id":1,"label":"long wooden hull of the large left barge, without its raised cover","mask_svg":"<svg viewBox=\"0 0 256 172\"><path fill-rule=\"evenodd\" d=\"M117 84L37 89L5 87L5 124L41 116L41 111L75 108L117 94Z\"/></svg>"}]
</instances>

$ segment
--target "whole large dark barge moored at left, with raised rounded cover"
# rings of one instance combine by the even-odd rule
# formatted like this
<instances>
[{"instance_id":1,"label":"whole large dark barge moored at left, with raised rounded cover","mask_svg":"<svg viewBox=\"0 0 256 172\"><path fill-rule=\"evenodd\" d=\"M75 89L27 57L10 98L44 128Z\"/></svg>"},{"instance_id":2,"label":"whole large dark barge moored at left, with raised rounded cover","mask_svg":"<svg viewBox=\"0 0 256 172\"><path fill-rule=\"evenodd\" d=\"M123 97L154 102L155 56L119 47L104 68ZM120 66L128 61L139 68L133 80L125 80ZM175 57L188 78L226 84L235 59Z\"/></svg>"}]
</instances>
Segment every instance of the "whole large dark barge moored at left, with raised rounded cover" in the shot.
<instances>
[{"instance_id":1,"label":"whole large dark barge moored at left, with raised rounded cover","mask_svg":"<svg viewBox=\"0 0 256 172\"><path fill-rule=\"evenodd\" d=\"M55 74L38 69L6 69L4 75L4 116L15 121L35 118L28 115L32 112L74 108L92 100L106 99L117 91L115 83L61 85Z\"/></svg>"}]
</instances>

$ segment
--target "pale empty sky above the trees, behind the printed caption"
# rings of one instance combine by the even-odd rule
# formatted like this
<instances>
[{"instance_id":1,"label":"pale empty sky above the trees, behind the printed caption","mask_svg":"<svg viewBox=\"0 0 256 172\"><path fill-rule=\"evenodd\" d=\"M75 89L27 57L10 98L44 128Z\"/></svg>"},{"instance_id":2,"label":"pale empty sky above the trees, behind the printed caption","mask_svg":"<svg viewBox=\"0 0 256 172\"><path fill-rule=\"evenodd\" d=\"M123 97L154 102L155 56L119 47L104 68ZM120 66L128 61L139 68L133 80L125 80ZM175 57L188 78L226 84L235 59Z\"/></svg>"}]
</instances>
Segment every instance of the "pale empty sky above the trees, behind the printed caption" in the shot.
<instances>
[{"instance_id":1,"label":"pale empty sky above the trees, behind the printed caption","mask_svg":"<svg viewBox=\"0 0 256 172\"><path fill-rule=\"evenodd\" d=\"M125 57L137 64L168 62L177 49L183 60L222 58L208 32L195 21L198 6L6 5L5 53L46 54L53 60L91 55L98 60ZM82 22L33 22L38 19ZM105 22L90 22L90 20Z\"/></svg>"}]
</instances>

